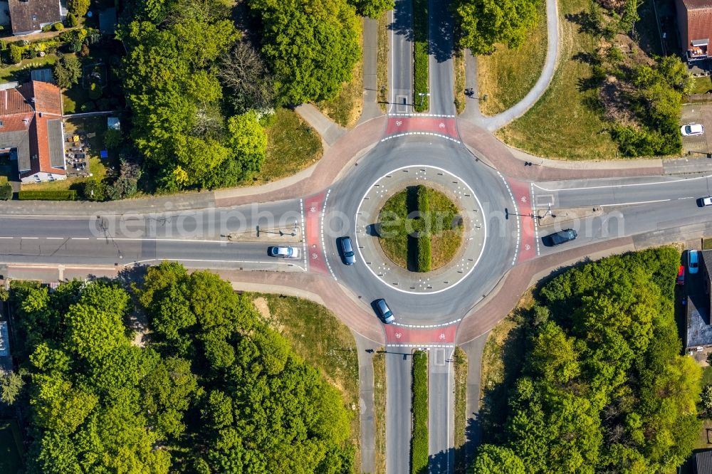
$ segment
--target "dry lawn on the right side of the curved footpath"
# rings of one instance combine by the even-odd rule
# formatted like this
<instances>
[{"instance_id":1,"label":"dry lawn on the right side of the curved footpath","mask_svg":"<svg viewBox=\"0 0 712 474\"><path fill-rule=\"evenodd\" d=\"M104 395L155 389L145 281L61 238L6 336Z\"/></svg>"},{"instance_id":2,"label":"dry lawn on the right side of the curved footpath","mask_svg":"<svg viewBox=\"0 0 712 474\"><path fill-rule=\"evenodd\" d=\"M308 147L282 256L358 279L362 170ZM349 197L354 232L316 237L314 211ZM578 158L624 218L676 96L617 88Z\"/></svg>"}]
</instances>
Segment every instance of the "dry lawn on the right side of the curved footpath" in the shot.
<instances>
[{"instance_id":1,"label":"dry lawn on the right side of the curved footpath","mask_svg":"<svg viewBox=\"0 0 712 474\"><path fill-rule=\"evenodd\" d=\"M585 14L589 0L560 0L559 65L548 90L518 120L498 130L503 142L543 157L558 159L612 159L617 147L599 112L587 105L597 99L596 90L581 90L591 66L586 55L594 53L597 39L580 31L573 21Z\"/></svg>"}]
</instances>

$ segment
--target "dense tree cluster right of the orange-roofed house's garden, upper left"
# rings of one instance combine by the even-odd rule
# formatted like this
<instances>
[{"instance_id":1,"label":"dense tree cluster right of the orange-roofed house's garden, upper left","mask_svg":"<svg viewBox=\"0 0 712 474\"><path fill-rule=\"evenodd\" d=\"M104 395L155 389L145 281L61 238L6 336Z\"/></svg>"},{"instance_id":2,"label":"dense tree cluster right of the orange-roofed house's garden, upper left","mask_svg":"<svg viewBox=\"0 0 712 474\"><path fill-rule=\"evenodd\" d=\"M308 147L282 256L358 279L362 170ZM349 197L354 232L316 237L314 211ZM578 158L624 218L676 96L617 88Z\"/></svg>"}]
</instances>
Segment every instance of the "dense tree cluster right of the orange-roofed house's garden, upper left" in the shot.
<instances>
[{"instance_id":1,"label":"dense tree cluster right of the orange-roofed house's garden, upper left","mask_svg":"<svg viewBox=\"0 0 712 474\"><path fill-rule=\"evenodd\" d=\"M162 189L234 185L261 167L266 135L257 115L226 119L221 106L216 65L239 36L227 13L187 9L173 13L169 25L132 21L122 31L132 139ZM164 16L146 13L156 15ZM248 153L232 147L247 141Z\"/></svg>"}]
</instances>

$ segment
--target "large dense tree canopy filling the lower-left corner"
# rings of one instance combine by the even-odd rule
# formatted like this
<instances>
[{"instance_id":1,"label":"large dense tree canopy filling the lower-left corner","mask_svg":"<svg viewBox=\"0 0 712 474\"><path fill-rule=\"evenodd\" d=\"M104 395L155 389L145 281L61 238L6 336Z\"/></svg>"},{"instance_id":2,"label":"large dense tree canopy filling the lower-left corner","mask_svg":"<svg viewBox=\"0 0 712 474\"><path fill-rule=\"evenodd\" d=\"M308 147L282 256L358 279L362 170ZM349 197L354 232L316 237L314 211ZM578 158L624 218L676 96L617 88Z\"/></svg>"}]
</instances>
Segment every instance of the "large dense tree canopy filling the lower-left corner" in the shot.
<instances>
[{"instance_id":1,"label":"large dense tree canopy filling the lower-left corner","mask_svg":"<svg viewBox=\"0 0 712 474\"><path fill-rule=\"evenodd\" d=\"M133 298L132 298L133 296ZM138 307L132 307L131 301ZM350 473L342 396L212 273L150 268L131 291L15 285L28 473ZM127 316L144 311L145 347Z\"/></svg>"}]
</instances>

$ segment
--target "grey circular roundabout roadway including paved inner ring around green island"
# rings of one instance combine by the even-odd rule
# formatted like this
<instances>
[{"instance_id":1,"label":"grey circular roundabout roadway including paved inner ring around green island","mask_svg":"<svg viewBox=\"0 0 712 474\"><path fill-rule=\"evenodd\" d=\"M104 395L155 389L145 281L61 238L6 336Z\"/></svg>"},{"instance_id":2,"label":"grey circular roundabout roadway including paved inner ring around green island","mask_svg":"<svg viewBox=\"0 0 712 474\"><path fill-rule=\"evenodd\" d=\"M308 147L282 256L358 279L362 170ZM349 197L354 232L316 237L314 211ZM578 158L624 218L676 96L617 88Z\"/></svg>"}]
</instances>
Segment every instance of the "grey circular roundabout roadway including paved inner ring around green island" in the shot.
<instances>
[{"instance_id":1,"label":"grey circular roundabout roadway including paved inner ring around green island","mask_svg":"<svg viewBox=\"0 0 712 474\"><path fill-rule=\"evenodd\" d=\"M391 185L394 173L408 177L395 179ZM389 278L395 275L397 265L382 254L377 237L368 235L365 226L375 223L385 199L421 179L423 184L436 184L434 187L440 190L448 186L450 196L462 196L457 204L466 214L464 239L473 240L466 241L458 256L439 270L402 270L407 275L398 272L398 278ZM371 196L379 204L362 206L362 202L371 201ZM438 137L389 139L379 142L331 186L323 215L324 251L333 277L365 305L384 298L396 316L396 324L446 325L464 317L512 268L520 236L518 221L507 218L506 208L516 206L505 179L476 160L464 145ZM355 265L340 261L337 238L342 236L351 236L357 246ZM390 268L390 272L379 271L383 268ZM448 280L441 278L444 275L454 276ZM428 278L430 285L422 284Z\"/></svg>"}]
</instances>

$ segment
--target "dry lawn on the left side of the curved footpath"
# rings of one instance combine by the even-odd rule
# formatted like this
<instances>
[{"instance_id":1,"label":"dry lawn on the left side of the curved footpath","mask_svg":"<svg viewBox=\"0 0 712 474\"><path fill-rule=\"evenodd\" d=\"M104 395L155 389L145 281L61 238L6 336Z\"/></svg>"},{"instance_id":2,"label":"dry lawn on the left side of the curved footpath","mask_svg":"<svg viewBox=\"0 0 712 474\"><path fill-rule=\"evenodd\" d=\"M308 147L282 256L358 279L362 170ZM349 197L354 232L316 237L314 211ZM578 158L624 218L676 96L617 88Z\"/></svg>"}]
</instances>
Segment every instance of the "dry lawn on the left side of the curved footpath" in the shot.
<instances>
[{"instance_id":1,"label":"dry lawn on the left side of the curved footpath","mask_svg":"<svg viewBox=\"0 0 712 474\"><path fill-rule=\"evenodd\" d=\"M496 51L477 57L477 90L483 115L496 115L507 110L534 87L546 59L546 9L540 0L539 21L519 48L496 44Z\"/></svg>"}]
</instances>

